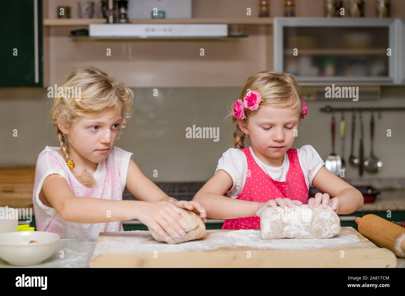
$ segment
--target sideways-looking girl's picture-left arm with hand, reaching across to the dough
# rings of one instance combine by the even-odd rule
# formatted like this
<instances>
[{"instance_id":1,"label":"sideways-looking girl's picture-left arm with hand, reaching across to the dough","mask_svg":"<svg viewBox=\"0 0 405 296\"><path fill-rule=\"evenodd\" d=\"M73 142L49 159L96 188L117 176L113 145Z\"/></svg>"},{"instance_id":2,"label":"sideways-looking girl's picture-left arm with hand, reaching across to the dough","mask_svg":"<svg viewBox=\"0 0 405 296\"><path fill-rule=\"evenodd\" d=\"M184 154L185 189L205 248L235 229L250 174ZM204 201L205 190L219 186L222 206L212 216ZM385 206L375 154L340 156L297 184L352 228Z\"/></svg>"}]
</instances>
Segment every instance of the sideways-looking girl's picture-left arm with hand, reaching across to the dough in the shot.
<instances>
[{"instance_id":1,"label":"sideways-looking girl's picture-left arm with hand, reaching across to the dough","mask_svg":"<svg viewBox=\"0 0 405 296\"><path fill-rule=\"evenodd\" d=\"M138 219L160 236L174 239L185 236L188 227L177 207L166 201L113 201L94 197L77 197L65 178L49 175L42 186L45 199L61 218L75 223L106 223Z\"/></svg>"}]
</instances>

